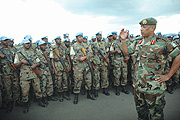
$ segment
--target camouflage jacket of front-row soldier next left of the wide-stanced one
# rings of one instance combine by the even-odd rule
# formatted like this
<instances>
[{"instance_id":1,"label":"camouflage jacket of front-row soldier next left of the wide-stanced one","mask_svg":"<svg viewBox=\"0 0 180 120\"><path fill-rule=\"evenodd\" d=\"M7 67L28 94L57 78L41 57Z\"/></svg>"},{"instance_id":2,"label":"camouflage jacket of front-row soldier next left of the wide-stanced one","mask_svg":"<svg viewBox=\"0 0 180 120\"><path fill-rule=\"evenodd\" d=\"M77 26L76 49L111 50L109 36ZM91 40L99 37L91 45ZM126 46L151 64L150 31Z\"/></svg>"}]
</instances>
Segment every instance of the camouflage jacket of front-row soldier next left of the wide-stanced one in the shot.
<instances>
[{"instance_id":1,"label":"camouflage jacket of front-row soldier next left of the wide-stanced one","mask_svg":"<svg viewBox=\"0 0 180 120\"><path fill-rule=\"evenodd\" d=\"M68 64L68 59L67 59L67 47L64 44L61 44L60 47L57 45L52 46L52 51L50 51L50 58L54 59L54 64L55 64L55 68L57 71L65 71L65 69L63 68L63 65L61 64L57 54L54 52L55 50L58 50L60 57L63 59L66 67L69 67Z\"/></svg>"}]
</instances>

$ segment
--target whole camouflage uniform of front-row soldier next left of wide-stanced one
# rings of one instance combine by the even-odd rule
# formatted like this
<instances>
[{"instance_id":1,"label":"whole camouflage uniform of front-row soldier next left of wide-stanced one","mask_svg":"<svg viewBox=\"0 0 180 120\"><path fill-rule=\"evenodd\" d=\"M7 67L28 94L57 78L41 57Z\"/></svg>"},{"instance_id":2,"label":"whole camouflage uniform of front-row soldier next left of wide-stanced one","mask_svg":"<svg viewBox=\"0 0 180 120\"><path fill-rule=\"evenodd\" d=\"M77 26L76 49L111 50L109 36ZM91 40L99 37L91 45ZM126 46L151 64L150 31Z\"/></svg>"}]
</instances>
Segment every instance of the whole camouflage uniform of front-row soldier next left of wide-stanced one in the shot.
<instances>
[{"instance_id":1,"label":"whole camouflage uniform of front-row soldier next left of wide-stanced one","mask_svg":"<svg viewBox=\"0 0 180 120\"><path fill-rule=\"evenodd\" d=\"M58 56L54 52L58 50L60 56L63 58L64 63L67 67L69 67L66 55L68 55L66 51L66 46L61 44L60 47L57 45L52 46L52 51L50 52L50 58L54 59L55 69L60 76L55 75L55 87L57 88L57 92L61 93L64 91L68 91L68 78L65 69L63 68Z\"/></svg>"}]
</instances>

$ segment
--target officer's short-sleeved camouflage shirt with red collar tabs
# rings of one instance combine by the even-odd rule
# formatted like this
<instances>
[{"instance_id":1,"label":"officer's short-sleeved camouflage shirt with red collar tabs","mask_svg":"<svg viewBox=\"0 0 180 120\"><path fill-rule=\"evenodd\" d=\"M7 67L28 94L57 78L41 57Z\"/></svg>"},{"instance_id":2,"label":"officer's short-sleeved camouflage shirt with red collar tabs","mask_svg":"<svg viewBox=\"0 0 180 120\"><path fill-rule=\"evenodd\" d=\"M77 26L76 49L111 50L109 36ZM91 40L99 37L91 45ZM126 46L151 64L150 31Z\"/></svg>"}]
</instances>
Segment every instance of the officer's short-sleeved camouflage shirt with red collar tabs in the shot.
<instances>
[{"instance_id":1,"label":"officer's short-sleeved camouflage shirt with red collar tabs","mask_svg":"<svg viewBox=\"0 0 180 120\"><path fill-rule=\"evenodd\" d=\"M134 54L135 66L133 86L136 90L150 94L162 93L166 89L165 82L159 84L155 75L165 74L167 55L176 57L178 47L162 37L134 41L128 47L129 54Z\"/></svg>"}]
</instances>

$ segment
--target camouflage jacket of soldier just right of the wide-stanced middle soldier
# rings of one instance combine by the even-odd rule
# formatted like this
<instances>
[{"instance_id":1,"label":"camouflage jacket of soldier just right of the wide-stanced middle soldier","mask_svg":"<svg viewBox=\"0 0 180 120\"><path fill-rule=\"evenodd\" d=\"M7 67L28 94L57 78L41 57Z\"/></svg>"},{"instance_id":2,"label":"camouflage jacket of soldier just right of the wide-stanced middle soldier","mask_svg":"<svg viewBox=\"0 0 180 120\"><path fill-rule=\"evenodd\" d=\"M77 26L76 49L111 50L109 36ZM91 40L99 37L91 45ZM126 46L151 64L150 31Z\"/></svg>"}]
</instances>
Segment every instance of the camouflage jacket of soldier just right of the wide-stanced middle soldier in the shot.
<instances>
[{"instance_id":1,"label":"camouflage jacket of soldier just right of the wide-stanced middle soldier","mask_svg":"<svg viewBox=\"0 0 180 120\"><path fill-rule=\"evenodd\" d=\"M101 50L104 55L107 53L107 43L106 42L93 42L91 47L93 54L96 59L94 59L94 64L99 66L107 66L107 63L103 60L103 57L100 53L95 53L98 50Z\"/></svg>"}]
</instances>

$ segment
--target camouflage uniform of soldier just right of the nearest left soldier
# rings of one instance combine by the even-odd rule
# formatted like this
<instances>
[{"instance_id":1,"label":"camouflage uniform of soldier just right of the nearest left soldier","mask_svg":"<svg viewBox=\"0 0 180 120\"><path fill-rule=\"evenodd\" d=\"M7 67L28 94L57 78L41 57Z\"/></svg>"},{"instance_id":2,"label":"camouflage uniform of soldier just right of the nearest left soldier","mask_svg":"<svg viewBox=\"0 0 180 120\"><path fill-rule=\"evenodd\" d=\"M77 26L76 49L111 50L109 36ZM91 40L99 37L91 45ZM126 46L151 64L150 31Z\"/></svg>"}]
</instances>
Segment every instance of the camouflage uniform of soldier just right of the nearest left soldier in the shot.
<instances>
[{"instance_id":1,"label":"camouflage uniform of soldier just right of the nearest left soldier","mask_svg":"<svg viewBox=\"0 0 180 120\"><path fill-rule=\"evenodd\" d=\"M52 76L50 73L49 66L50 64L50 51L37 51L38 57L41 61L41 64L39 66L40 69L40 75L41 75L41 92L42 92L42 97L47 97L51 96L53 94L53 81L52 81ZM50 64L50 65L49 65Z\"/></svg>"}]
</instances>

